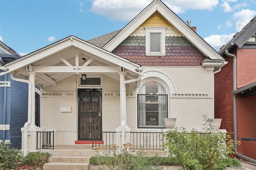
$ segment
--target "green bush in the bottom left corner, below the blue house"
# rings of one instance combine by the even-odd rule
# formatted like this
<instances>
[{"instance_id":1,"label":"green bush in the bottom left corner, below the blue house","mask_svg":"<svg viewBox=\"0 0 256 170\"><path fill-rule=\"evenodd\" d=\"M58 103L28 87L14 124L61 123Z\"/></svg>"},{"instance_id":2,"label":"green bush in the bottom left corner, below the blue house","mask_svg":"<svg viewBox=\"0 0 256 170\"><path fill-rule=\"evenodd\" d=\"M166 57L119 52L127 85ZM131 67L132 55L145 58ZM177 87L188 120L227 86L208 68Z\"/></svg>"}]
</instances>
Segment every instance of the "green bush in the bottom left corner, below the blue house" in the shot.
<instances>
[{"instance_id":1,"label":"green bush in the bottom left corner, below the blue house","mask_svg":"<svg viewBox=\"0 0 256 170\"><path fill-rule=\"evenodd\" d=\"M21 152L18 149L11 148L10 143L0 143L0 169L15 169L21 158Z\"/></svg>"}]
</instances>

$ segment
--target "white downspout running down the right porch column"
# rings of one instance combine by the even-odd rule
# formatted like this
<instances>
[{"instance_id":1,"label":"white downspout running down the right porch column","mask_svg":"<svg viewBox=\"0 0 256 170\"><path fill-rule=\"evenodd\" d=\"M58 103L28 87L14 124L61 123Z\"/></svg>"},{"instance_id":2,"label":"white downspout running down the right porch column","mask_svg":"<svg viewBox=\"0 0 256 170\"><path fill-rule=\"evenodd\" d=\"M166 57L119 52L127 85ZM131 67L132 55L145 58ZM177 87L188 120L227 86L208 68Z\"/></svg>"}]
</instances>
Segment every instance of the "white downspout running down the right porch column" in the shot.
<instances>
[{"instance_id":1,"label":"white downspout running down the right porch column","mask_svg":"<svg viewBox=\"0 0 256 170\"><path fill-rule=\"evenodd\" d=\"M138 78L136 79L130 79L130 80L126 80L123 82L122 84L122 87L121 87L121 93L124 93L124 111L125 113L122 113L122 123L121 123L121 127L122 127L122 131L121 131L121 134L122 134L122 144L125 143L125 125L126 125L126 92L125 92L125 85L127 83L132 83L132 82L135 82L135 81L139 81L141 79L141 75L138 75Z\"/></svg>"}]
</instances>

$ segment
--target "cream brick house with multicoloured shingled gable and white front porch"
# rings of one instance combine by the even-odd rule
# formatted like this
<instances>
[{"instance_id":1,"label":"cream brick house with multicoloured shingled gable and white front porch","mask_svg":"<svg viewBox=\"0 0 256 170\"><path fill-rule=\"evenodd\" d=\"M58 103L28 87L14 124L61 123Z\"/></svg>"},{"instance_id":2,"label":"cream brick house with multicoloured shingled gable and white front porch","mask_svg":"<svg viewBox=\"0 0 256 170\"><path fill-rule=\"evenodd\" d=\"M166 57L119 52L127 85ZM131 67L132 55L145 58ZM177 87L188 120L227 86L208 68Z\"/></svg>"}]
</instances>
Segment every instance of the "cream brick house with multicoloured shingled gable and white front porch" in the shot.
<instances>
[{"instance_id":1,"label":"cream brick house with multicoloured shingled gable and white front porch","mask_svg":"<svg viewBox=\"0 0 256 170\"><path fill-rule=\"evenodd\" d=\"M204 128L202 115L214 117L214 71L226 61L193 29L154 0L122 30L88 42L69 36L4 64L1 75L14 74L31 89L24 153L36 149L42 130L54 130L54 144L63 145L101 138L93 131L130 142L130 132L166 130L165 117L188 130Z\"/></svg>"}]
</instances>

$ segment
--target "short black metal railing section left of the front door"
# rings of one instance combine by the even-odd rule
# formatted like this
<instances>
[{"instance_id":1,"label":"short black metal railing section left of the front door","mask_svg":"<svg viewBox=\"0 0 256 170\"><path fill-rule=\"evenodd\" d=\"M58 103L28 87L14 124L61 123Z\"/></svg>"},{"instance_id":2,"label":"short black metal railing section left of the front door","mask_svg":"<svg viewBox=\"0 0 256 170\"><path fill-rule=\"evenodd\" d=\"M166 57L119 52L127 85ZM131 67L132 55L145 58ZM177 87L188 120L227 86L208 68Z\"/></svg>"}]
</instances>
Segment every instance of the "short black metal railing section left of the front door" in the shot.
<instances>
[{"instance_id":1,"label":"short black metal railing section left of the front door","mask_svg":"<svg viewBox=\"0 0 256 170\"><path fill-rule=\"evenodd\" d=\"M36 149L54 150L54 131L42 131L36 133Z\"/></svg>"}]
</instances>

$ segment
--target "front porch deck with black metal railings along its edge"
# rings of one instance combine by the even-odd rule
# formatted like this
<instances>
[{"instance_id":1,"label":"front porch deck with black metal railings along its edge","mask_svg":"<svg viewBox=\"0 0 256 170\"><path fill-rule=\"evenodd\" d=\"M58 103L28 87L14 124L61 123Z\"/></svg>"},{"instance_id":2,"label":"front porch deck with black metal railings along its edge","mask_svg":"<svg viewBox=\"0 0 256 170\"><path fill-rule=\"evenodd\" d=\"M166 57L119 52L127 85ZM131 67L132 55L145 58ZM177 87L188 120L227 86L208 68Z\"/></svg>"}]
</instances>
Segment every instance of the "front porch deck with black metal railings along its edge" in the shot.
<instances>
[{"instance_id":1,"label":"front porch deck with black metal railings along its edge","mask_svg":"<svg viewBox=\"0 0 256 170\"><path fill-rule=\"evenodd\" d=\"M92 140L77 140L74 141L74 145L58 145L54 142L57 140L54 131L36 132L36 150L63 148L92 150L94 147L115 149L113 144L123 146L121 144L122 132L92 132L92 134ZM164 132L125 132L125 139L126 143L131 144L131 149L164 150Z\"/></svg>"}]
</instances>

